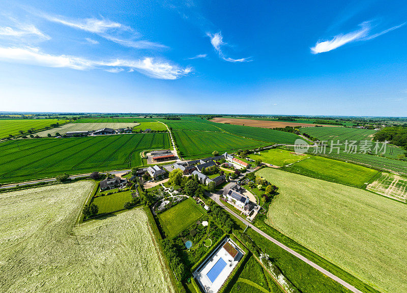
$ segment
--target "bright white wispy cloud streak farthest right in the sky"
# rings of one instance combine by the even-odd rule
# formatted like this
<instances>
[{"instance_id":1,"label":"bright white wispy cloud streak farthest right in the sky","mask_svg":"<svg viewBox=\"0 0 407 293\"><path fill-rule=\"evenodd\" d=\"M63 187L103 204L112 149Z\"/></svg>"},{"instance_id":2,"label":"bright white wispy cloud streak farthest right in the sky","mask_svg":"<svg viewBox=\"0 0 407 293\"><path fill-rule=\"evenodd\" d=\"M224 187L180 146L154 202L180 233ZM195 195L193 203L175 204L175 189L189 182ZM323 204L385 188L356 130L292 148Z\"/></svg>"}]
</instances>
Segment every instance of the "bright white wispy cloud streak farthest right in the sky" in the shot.
<instances>
[{"instance_id":1,"label":"bright white wispy cloud streak farthest right in the sky","mask_svg":"<svg viewBox=\"0 0 407 293\"><path fill-rule=\"evenodd\" d=\"M388 32L394 31L397 28L403 26L404 24L405 24L405 22L400 25L388 28L387 30L382 31L380 33L371 34L371 30L372 30L371 22L365 21L365 22L362 22L361 24L359 24L359 26L360 26L359 30L356 30L356 31L353 31L353 32L350 32L347 34L336 35L331 40L316 42L315 46L311 47L311 52L313 54L329 52L329 51L339 48L347 43L372 40L372 39L382 36Z\"/></svg>"}]
</instances>

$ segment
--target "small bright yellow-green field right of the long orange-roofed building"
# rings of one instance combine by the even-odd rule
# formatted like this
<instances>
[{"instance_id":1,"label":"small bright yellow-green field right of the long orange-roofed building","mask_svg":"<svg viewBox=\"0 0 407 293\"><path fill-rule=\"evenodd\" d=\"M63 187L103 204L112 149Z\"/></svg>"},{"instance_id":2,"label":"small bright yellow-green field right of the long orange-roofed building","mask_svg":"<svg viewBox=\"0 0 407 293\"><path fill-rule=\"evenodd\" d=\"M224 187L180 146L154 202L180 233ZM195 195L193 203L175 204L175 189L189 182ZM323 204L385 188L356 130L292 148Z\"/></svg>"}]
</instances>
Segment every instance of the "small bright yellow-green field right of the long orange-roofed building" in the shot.
<instances>
[{"instance_id":1,"label":"small bright yellow-green field right of the long orange-roofed building","mask_svg":"<svg viewBox=\"0 0 407 293\"><path fill-rule=\"evenodd\" d=\"M248 157L257 160L260 159L264 163L272 164L275 166L284 166L288 164L295 163L300 160L309 158L310 155L299 156L297 154L292 154L292 151L281 150L281 149L270 149L258 154L251 154Z\"/></svg>"}]
</instances>

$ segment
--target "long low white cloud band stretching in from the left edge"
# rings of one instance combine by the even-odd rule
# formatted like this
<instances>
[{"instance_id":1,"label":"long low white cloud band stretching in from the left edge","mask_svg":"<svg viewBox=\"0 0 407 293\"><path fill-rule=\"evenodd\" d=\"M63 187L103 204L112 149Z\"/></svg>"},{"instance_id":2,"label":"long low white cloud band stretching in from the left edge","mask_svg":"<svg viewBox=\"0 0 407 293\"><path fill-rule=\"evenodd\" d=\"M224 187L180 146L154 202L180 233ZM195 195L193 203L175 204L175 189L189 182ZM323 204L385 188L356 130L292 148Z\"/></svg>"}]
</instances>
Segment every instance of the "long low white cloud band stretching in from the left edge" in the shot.
<instances>
[{"instance_id":1,"label":"long low white cloud band stretching in from the left edge","mask_svg":"<svg viewBox=\"0 0 407 293\"><path fill-rule=\"evenodd\" d=\"M192 68L180 68L167 61L144 57L139 60L94 61L71 55L52 55L41 52L38 48L0 47L0 60L19 62L45 67L72 68L76 70L103 69L110 72L120 72L127 69L136 70L144 75L158 79L177 79L189 74Z\"/></svg>"}]
</instances>

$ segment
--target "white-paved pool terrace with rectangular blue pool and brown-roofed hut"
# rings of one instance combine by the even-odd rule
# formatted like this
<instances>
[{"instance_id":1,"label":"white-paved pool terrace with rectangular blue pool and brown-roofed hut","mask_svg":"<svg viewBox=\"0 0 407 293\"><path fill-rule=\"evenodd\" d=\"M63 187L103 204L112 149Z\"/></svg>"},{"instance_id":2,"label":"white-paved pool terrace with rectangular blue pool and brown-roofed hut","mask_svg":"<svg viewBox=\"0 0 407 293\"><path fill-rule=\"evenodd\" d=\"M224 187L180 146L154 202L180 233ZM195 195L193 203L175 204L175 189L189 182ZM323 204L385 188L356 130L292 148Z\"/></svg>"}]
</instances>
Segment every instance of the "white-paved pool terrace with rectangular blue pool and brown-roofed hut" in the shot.
<instances>
[{"instance_id":1,"label":"white-paved pool terrace with rectangular blue pool and brown-roofed hut","mask_svg":"<svg viewBox=\"0 0 407 293\"><path fill-rule=\"evenodd\" d=\"M244 252L230 238L225 238L192 273L202 292L217 293L234 271Z\"/></svg>"}]
</instances>

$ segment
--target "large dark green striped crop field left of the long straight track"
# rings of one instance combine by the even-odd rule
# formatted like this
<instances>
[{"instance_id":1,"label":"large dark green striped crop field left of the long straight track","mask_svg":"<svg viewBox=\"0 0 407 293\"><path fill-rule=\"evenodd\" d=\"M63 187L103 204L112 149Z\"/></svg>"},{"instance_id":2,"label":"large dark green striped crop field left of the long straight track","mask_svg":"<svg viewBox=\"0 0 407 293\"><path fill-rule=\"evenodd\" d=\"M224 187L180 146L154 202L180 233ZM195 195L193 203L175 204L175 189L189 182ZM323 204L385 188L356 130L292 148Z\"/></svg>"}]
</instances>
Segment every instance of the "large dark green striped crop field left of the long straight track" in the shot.
<instances>
[{"instance_id":1,"label":"large dark green striped crop field left of the long straight track","mask_svg":"<svg viewBox=\"0 0 407 293\"><path fill-rule=\"evenodd\" d=\"M0 143L0 183L141 166L141 151L169 146L167 133L11 140Z\"/></svg>"}]
</instances>

